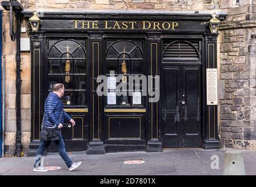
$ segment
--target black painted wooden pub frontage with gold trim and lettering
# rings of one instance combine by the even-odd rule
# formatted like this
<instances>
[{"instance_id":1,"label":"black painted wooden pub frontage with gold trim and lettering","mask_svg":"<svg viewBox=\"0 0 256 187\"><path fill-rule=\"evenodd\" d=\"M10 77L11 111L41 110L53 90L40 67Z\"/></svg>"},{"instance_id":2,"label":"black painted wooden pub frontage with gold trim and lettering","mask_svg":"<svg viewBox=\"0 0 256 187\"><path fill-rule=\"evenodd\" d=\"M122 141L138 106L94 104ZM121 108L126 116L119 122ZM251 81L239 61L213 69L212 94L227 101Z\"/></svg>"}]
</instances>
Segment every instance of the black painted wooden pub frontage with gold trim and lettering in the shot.
<instances>
[{"instance_id":1,"label":"black painted wooden pub frontage with gold trim and lettering","mask_svg":"<svg viewBox=\"0 0 256 187\"><path fill-rule=\"evenodd\" d=\"M68 151L219 148L217 106L206 105L206 68L217 68L217 34L210 33L210 14L69 11L44 12L40 19L39 32L30 32L28 155L39 146L44 101L57 82L65 84L64 108L77 123L62 130ZM149 102L147 95L133 105L128 96L126 105L118 97L115 105L108 105L106 96L97 95L96 78L111 70L122 74L123 60L128 75L160 76L159 102Z\"/></svg>"}]
</instances>

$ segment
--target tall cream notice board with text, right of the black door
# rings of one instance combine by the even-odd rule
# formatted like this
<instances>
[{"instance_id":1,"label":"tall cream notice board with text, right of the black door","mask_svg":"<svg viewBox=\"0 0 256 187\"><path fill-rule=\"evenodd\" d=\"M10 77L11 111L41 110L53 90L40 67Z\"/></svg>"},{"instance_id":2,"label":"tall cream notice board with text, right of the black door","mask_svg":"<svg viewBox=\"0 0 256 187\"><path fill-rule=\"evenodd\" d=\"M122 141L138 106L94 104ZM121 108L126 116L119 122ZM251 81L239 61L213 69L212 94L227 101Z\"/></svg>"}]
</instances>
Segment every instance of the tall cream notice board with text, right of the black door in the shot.
<instances>
[{"instance_id":1,"label":"tall cream notice board with text, right of the black door","mask_svg":"<svg viewBox=\"0 0 256 187\"><path fill-rule=\"evenodd\" d=\"M217 68L206 69L207 105L217 105Z\"/></svg>"}]
</instances>

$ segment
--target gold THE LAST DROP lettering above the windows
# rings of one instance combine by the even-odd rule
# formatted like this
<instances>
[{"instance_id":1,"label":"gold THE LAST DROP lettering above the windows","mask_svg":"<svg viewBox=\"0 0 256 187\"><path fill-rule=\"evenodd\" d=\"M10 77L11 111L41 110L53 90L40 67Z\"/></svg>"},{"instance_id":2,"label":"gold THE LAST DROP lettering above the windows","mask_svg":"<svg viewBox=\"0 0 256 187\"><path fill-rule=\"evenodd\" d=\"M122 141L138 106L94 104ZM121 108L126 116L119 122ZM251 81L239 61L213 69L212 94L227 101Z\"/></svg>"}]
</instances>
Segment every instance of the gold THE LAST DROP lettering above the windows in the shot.
<instances>
[{"instance_id":1,"label":"gold THE LAST DROP lettering above the windows","mask_svg":"<svg viewBox=\"0 0 256 187\"><path fill-rule=\"evenodd\" d=\"M71 20L74 29L142 29L142 30L175 30L177 22L153 21L113 21L113 20Z\"/></svg>"}]
</instances>

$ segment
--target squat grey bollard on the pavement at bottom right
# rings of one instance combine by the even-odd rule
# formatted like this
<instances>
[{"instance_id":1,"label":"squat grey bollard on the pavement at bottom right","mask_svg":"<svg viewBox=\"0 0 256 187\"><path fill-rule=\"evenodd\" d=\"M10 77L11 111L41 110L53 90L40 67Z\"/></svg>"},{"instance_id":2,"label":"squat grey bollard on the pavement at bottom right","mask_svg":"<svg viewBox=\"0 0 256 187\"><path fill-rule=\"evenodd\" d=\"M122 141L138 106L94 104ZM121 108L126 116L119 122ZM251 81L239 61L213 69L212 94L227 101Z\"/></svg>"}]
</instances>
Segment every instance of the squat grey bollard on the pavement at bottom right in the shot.
<instances>
[{"instance_id":1,"label":"squat grey bollard on the pavement at bottom right","mask_svg":"<svg viewBox=\"0 0 256 187\"><path fill-rule=\"evenodd\" d=\"M241 151L225 151L223 175L245 175L244 160Z\"/></svg>"}]
</instances>

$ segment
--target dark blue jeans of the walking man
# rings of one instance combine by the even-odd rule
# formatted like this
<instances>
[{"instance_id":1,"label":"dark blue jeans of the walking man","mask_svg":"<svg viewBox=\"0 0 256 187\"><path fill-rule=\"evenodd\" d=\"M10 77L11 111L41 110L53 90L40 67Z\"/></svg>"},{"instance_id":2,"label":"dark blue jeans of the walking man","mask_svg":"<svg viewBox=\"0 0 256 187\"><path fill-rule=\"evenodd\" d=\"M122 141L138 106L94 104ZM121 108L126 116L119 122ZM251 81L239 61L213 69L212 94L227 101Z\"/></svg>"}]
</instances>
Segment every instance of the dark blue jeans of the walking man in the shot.
<instances>
[{"instance_id":1,"label":"dark blue jeans of the walking man","mask_svg":"<svg viewBox=\"0 0 256 187\"><path fill-rule=\"evenodd\" d=\"M43 156L44 151L50 146L50 143L51 143L51 141L41 140L41 144L40 144L39 148L37 149L37 155ZM56 144L58 153L60 154L61 158L65 161L65 164L67 165L67 167L70 168L72 165L72 161L70 160L70 157L68 157L68 154L65 150L65 144L64 144L63 138L60 137L60 139L54 141L54 143ZM37 161L38 160L36 160L36 162Z\"/></svg>"}]
</instances>

